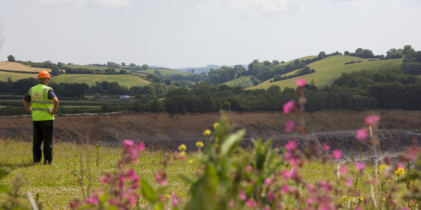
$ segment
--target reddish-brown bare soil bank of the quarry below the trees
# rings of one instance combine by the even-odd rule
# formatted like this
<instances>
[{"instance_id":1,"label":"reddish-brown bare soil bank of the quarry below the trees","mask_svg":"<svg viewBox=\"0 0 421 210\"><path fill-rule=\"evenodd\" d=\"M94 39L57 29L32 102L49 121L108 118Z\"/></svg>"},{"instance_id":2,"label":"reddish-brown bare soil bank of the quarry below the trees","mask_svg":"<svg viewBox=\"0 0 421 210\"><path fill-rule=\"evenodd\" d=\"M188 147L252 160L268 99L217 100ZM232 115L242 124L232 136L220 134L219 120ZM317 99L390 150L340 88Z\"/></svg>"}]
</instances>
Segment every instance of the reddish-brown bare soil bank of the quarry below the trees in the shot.
<instances>
[{"instance_id":1,"label":"reddish-brown bare soil bank of the quarry below the trees","mask_svg":"<svg viewBox=\"0 0 421 210\"><path fill-rule=\"evenodd\" d=\"M225 113L236 131L246 129L245 139L274 137L279 144L293 136L285 134L284 124L295 115L282 112L228 112ZM381 115L384 129L421 129L421 113L417 111L328 111L305 113L311 133L355 130L364 126L368 115ZM181 142L204 139L204 130L213 130L220 113L140 113L107 116L56 117L55 140L75 143L91 142L117 144L122 139L139 139L152 147L175 150ZM391 125L393 123L393 127ZM278 131L276 131L278 130ZM332 132L338 133L338 132ZM348 136L352 132L347 132ZM0 119L0 136L13 136L29 141L32 135L32 118ZM188 145L189 146L189 145Z\"/></svg>"}]
</instances>

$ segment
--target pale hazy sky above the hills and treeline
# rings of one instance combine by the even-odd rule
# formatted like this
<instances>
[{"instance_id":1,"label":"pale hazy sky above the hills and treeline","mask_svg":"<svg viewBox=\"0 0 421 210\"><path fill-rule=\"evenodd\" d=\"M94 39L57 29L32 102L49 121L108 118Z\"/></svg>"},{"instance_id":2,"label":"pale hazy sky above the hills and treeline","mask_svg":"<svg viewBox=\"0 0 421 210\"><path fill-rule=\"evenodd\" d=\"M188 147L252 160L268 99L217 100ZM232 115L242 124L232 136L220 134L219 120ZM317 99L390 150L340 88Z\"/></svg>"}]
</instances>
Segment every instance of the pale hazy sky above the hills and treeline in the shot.
<instances>
[{"instance_id":1,"label":"pale hazy sky above the hills and treeline","mask_svg":"<svg viewBox=\"0 0 421 210\"><path fill-rule=\"evenodd\" d=\"M421 50L420 0L0 1L0 60L189 68Z\"/></svg>"}]
</instances>

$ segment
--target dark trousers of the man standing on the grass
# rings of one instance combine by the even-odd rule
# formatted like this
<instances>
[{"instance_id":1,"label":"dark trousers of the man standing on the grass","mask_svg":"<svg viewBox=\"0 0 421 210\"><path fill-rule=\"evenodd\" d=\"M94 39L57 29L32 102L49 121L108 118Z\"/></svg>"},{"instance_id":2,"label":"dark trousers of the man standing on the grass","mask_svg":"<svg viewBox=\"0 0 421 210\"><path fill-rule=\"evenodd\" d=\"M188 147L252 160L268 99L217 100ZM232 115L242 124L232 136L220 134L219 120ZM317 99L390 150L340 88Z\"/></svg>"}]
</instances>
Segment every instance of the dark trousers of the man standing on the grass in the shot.
<instances>
[{"instance_id":1,"label":"dark trousers of the man standing on the grass","mask_svg":"<svg viewBox=\"0 0 421 210\"><path fill-rule=\"evenodd\" d=\"M34 163L40 163L43 158L41 144L44 142L44 164L51 164L53 161L53 137L54 120L33 121L34 125L34 145L32 154Z\"/></svg>"}]
</instances>

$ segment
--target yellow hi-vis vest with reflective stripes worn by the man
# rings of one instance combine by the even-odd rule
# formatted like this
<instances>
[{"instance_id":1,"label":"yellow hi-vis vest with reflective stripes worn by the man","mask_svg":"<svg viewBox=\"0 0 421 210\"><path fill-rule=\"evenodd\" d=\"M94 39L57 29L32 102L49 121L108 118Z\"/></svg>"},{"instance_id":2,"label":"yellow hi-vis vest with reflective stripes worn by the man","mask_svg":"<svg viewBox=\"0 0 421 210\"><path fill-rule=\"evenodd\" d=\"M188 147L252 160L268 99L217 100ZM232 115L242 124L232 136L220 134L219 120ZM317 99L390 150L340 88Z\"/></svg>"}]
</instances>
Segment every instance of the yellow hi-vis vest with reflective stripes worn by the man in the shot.
<instances>
[{"instance_id":1,"label":"yellow hi-vis vest with reflective stripes worn by the man","mask_svg":"<svg viewBox=\"0 0 421 210\"><path fill-rule=\"evenodd\" d=\"M31 96L32 120L53 120L54 115L47 111L53 110L53 100L48 99L48 90L52 89L44 84L38 84L29 89Z\"/></svg>"}]
</instances>

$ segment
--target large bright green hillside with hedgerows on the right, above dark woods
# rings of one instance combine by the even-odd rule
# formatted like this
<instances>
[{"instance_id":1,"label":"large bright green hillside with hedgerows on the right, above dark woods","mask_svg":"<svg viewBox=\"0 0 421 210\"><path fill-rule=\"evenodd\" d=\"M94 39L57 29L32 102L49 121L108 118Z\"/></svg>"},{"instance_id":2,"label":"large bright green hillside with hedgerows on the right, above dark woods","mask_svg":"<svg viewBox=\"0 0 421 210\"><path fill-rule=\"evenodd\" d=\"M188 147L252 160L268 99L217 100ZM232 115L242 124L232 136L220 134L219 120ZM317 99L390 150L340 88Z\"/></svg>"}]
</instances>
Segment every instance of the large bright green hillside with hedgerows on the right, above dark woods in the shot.
<instances>
[{"instance_id":1,"label":"large bright green hillside with hedgerows on the right, above dark woods","mask_svg":"<svg viewBox=\"0 0 421 210\"><path fill-rule=\"evenodd\" d=\"M361 63L352 63L348 65L344 65L345 62L349 62L351 60L362 60ZM302 78L307 79L307 81L311 81L314 79L317 87L324 87L326 85L332 84L333 80L341 76L342 72L352 72L352 71L360 71L362 69L367 70L379 70L379 69L386 69L386 68L400 68L402 64L402 59L393 59L393 60L375 60L375 61L367 61L367 58L357 58L348 55L334 55L322 60L318 60L314 63L310 63L308 66L310 68L314 68L316 73L307 74L301 76ZM294 74L295 71L290 72L288 74ZM278 85L282 89L284 87L296 87L294 84L296 78L286 79L282 81L276 81L269 83L269 81L264 81L258 86L250 87L248 89L258 89L263 88L267 89L271 85Z\"/></svg>"}]
</instances>

